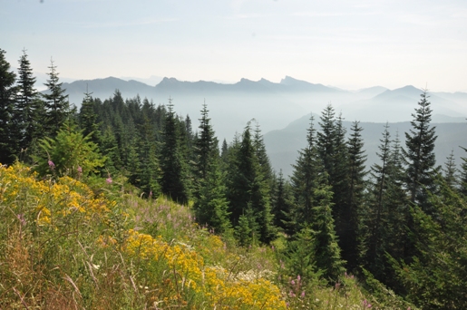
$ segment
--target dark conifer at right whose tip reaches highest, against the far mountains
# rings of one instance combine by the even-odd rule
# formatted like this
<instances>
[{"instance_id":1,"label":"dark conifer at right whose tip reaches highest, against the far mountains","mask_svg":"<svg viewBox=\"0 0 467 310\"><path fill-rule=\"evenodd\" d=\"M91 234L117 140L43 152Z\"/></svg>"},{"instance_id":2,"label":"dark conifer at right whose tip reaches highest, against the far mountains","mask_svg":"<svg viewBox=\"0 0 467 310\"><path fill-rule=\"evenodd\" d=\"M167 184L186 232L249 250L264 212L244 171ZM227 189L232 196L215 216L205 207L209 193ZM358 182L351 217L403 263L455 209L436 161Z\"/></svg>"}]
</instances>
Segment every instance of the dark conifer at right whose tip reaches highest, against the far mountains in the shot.
<instances>
[{"instance_id":1,"label":"dark conifer at right whose tip reaches highest, against the far mountains","mask_svg":"<svg viewBox=\"0 0 467 310\"><path fill-rule=\"evenodd\" d=\"M435 127L430 127L432 110L428 101L428 94L423 91L419 107L412 114L411 121L413 129L405 132L405 146L403 149L406 168L406 184L410 192L412 203L418 204L424 212L433 213L428 202L426 189L433 191L433 177L439 170L435 168L434 141Z\"/></svg>"}]
</instances>

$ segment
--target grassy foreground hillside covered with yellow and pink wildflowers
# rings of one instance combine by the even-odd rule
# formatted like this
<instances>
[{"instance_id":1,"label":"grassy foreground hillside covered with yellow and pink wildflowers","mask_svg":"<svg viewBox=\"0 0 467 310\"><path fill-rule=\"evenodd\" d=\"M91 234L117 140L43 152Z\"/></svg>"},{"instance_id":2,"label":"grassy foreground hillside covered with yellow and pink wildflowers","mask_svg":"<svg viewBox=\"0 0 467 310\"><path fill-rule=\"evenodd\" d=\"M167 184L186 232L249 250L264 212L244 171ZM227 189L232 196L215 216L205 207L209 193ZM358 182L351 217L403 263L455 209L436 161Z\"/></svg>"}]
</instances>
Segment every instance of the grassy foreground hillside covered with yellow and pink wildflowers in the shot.
<instances>
[{"instance_id":1,"label":"grassy foreground hillside covered with yellow and pink wildflowers","mask_svg":"<svg viewBox=\"0 0 467 310\"><path fill-rule=\"evenodd\" d=\"M375 281L290 275L284 237L237 247L190 207L115 179L37 179L0 168L0 308L407 309ZM379 287L379 288L378 288Z\"/></svg>"}]
</instances>

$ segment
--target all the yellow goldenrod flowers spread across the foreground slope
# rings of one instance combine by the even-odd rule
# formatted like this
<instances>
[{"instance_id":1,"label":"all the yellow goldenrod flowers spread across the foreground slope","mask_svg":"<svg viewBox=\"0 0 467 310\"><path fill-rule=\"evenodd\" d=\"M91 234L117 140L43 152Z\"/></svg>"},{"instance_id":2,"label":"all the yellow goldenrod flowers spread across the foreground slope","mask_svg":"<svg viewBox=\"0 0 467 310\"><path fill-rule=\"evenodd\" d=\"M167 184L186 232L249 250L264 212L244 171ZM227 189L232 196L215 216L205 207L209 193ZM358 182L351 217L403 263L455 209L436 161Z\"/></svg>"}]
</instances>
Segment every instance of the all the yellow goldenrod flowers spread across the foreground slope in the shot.
<instances>
[{"instance_id":1,"label":"all the yellow goldenrod flowers spread across the foreground slope","mask_svg":"<svg viewBox=\"0 0 467 310\"><path fill-rule=\"evenodd\" d=\"M44 270L37 278L48 278L49 283L54 281L54 287L71 287L70 292L82 298L75 303L93 307L98 303L94 298L100 296L101 301L106 300L109 307L116 306L112 304L116 301L112 297L114 289L110 286L111 283L120 283L120 287L127 288L120 296L122 301L119 302L122 304L119 305L135 305L137 301L138 305L158 308L286 309L280 290L266 277L242 276L248 273L241 274L239 270L234 272L232 268L219 266L219 257L227 256L225 244L220 237L193 226L192 221L186 229L193 236L174 235L172 240L168 240L167 236L150 235L131 228L131 221L119 222L120 219L115 216L118 212L125 215L123 218L130 217L129 213L134 217L139 214L134 214L131 206L116 206L115 202L105 199L102 194L96 196L79 180L66 176L55 180L37 178L37 174L23 164L1 166L0 205L7 212L5 214L12 215L12 223L20 223L19 226L15 224L20 229L19 236L25 236L21 235L23 227L29 229L34 226L46 231L47 235L37 240L40 246L34 247L37 253L40 252L35 257L47 257L50 266L47 269L37 267L37 270ZM174 229L185 229L180 219L184 212L179 212L178 216L174 213L174 217L169 217L168 213L164 220L173 222ZM155 223L161 222L157 218L153 220ZM70 225L73 229L67 228ZM87 231L79 229L85 228L93 229L92 237L83 237L87 236ZM49 245L54 240L63 240L71 233L76 236L77 242L73 243L72 237L66 244L56 244L56 247ZM35 242L34 234L28 236L31 242ZM78 239L81 241L78 242ZM44 244L53 250L44 252ZM72 247L81 252L72 250ZM70 248L69 252L67 248ZM55 253L55 250L60 251L60 254ZM93 251L95 256L89 251ZM78 255L82 258L75 259ZM111 255L116 258L112 260L109 257ZM63 264L61 259L74 260ZM109 266L111 260L121 261L122 266L120 262ZM125 269L122 269L123 266ZM109 282L108 279L112 278L110 276L117 274L116 270L119 270L120 280L114 278ZM15 275L10 274L14 279ZM88 280L91 282L86 282ZM15 283L15 280L11 283ZM29 291L29 286L24 283L24 292ZM10 293L8 296L11 300L18 296L13 288ZM42 305L34 299L34 294L27 295L27 298L30 305Z\"/></svg>"}]
</instances>

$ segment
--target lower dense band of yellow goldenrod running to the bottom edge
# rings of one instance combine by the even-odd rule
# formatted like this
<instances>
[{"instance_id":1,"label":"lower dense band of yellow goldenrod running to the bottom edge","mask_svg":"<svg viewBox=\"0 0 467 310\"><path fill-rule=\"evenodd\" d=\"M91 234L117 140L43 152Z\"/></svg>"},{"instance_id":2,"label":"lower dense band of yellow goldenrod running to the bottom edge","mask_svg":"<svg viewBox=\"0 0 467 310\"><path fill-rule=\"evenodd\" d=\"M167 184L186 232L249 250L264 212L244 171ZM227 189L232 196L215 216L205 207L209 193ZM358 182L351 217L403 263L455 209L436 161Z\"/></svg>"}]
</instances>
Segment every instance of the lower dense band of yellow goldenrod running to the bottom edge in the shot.
<instances>
[{"instance_id":1,"label":"lower dense band of yellow goldenrod running to the bottom edge","mask_svg":"<svg viewBox=\"0 0 467 310\"><path fill-rule=\"evenodd\" d=\"M211 243L221 244L216 236L212 236ZM213 247L213 250L218 251L219 247ZM198 295L199 299L209 301L209 308L286 308L279 289L268 280L238 279L222 267L205 266L203 258L188 245L170 244L161 237L151 237L131 229L125 251L132 257L150 259L153 264L166 266L166 289L179 294L184 291L186 295Z\"/></svg>"}]
</instances>

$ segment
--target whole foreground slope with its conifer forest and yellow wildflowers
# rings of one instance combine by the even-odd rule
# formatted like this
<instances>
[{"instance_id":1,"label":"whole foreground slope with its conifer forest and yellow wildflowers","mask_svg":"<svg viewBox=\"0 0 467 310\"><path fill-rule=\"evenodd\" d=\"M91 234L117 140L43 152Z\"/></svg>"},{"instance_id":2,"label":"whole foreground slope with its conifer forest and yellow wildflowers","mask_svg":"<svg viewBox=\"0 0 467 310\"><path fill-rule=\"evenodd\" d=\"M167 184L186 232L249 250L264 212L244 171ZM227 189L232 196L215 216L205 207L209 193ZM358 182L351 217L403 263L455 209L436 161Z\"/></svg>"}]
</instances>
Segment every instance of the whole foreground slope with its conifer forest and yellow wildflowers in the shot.
<instances>
[{"instance_id":1,"label":"whole foreground slope with its conifer forest and yellow wildflowers","mask_svg":"<svg viewBox=\"0 0 467 310\"><path fill-rule=\"evenodd\" d=\"M437 165L429 92L371 167L359 122L315 111L286 177L254 119L228 143L203 102L77 109L54 62L38 92L5 53L0 308L467 308L467 155Z\"/></svg>"}]
</instances>

